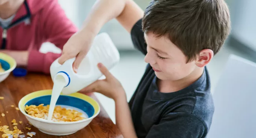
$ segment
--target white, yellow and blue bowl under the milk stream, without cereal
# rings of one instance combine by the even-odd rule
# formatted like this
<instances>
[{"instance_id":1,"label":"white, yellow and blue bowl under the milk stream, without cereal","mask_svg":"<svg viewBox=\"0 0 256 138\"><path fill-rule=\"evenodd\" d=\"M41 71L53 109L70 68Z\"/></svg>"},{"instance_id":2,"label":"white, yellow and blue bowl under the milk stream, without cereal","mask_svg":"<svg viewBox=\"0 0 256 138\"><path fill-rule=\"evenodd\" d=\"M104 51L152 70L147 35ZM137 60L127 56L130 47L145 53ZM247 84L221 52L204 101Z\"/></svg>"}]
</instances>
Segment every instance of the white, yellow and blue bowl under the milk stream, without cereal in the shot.
<instances>
[{"instance_id":1,"label":"white, yellow and blue bowl under the milk stream, without cereal","mask_svg":"<svg viewBox=\"0 0 256 138\"><path fill-rule=\"evenodd\" d=\"M54 122L39 117L33 117L28 114L26 105L49 105L51 101L51 94L52 90L36 91L25 95L19 101L19 110L34 127L38 128L43 133L49 135L73 134L80 129L85 128L85 126L87 126L92 119L100 113L100 106L93 98L76 92L70 95L61 94L57 100L56 106L61 106L66 109L74 109L82 113L82 116L85 116L85 119L74 122Z\"/></svg>"}]
</instances>

